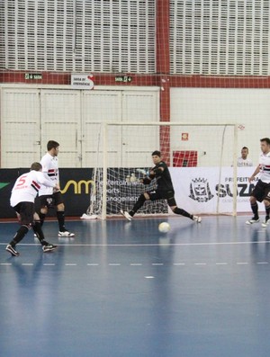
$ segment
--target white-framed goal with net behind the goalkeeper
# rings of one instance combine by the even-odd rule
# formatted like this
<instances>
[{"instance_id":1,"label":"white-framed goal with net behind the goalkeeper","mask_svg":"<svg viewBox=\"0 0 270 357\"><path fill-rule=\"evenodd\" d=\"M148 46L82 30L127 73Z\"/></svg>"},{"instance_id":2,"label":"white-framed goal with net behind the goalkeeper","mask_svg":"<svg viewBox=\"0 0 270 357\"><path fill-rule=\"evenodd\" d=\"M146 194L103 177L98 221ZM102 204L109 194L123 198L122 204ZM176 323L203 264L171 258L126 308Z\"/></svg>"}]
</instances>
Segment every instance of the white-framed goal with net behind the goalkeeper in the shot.
<instances>
[{"instance_id":1,"label":"white-framed goal with net behind the goalkeeper","mask_svg":"<svg viewBox=\"0 0 270 357\"><path fill-rule=\"evenodd\" d=\"M237 131L235 124L107 122L98 132L93 155L94 185L83 218L102 218L130 210L142 192L156 189L140 182L159 150L169 166L175 199L191 213L236 214ZM169 214L166 201L146 201L138 215Z\"/></svg>"}]
</instances>

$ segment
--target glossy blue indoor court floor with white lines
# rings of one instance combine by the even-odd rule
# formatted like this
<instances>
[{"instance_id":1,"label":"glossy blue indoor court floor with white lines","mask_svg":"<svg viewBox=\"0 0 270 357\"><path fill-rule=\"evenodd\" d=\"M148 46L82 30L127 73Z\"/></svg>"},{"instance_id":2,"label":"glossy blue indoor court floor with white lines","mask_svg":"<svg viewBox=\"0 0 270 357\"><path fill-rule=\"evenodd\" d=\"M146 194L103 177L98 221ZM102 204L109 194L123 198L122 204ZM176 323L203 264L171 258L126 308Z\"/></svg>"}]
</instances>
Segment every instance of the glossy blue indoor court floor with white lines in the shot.
<instances>
[{"instance_id":1,"label":"glossy blue indoor court floor with white lines","mask_svg":"<svg viewBox=\"0 0 270 357\"><path fill-rule=\"evenodd\" d=\"M19 257L1 223L0 356L268 357L270 226L246 219L46 222L58 249Z\"/></svg>"}]
</instances>

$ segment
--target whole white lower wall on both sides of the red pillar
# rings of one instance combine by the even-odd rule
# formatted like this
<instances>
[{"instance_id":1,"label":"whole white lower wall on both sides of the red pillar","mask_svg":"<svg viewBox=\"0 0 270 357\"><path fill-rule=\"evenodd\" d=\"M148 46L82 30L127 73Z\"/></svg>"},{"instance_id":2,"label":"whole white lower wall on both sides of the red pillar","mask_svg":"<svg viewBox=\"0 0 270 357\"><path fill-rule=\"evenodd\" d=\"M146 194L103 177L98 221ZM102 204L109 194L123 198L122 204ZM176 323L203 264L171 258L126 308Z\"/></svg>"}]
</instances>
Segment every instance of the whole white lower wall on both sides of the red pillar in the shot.
<instances>
[{"instance_id":1,"label":"whole white lower wall on both sides of the red pillar","mask_svg":"<svg viewBox=\"0 0 270 357\"><path fill-rule=\"evenodd\" d=\"M60 142L60 165L102 165L94 154L99 127L94 122L158 122L157 87L96 87L94 91L71 90L70 86L0 85L1 165L27 166L46 151L48 139ZM269 89L172 88L171 121L188 123L232 122L238 129L240 148L249 147L257 165L259 139L270 136ZM174 127L171 150L197 150L198 165L220 165L222 127ZM182 141L183 132L189 140ZM109 133L108 149L113 166L150 165L149 153L158 147L152 128L116 129ZM233 129L224 135L222 165L231 165ZM103 147L99 147L102 155ZM204 155L206 153L206 155ZM132 161L133 160L133 161Z\"/></svg>"}]
</instances>

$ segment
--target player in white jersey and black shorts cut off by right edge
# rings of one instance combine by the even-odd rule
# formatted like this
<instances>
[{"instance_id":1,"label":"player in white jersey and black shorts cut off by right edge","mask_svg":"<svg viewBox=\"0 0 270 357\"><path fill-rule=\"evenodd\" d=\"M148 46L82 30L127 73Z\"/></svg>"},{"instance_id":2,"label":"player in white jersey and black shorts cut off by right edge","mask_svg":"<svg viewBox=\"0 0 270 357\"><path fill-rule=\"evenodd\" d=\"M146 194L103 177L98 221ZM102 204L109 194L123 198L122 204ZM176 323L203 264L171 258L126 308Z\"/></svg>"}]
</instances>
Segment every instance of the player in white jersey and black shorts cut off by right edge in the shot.
<instances>
[{"instance_id":1,"label":"player in white jersey and black shorts cut off by right edge","mask_svg":"<svg viewBox=\"0 0 270 357\"><path fill-rule=\"evenodd\" d=\"M257 201L264 201L266 206L266 219L262 226L266 228L270 222L270 138L262 138L261 140L262 153L259 157L259 165L254 174L249 177L249 182L255 179L255 176L260 173L259 180L254 190L251 192L250 204L253 211L253 218L247 220L247 224L257 223L259 221Z\"/></svg>"}]
</instances>

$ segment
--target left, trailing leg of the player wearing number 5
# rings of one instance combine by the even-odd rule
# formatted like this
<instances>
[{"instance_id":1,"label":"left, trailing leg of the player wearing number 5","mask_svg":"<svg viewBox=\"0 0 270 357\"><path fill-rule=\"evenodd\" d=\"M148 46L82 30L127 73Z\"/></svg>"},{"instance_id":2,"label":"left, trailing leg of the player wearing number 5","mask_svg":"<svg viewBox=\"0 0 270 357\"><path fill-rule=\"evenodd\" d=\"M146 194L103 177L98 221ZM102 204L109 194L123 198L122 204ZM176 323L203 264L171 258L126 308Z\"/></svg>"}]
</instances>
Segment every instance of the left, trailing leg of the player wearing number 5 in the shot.
<instances>
[{"instance_id":1,"label":"left, trailing leg of the player wearing number 5","mask_svg":"<svg viewBox=\"0 0 270 357\"><path fill-rule=\"evenodd\" d=\"M5 250L14 256L18 256L19 252L16 251L16 245L23 240L23 237L31 229L33 218L33 203L21 202L14 207L17 216L20 218L21 227L17 230L13 240L6 245Z\"/></svg>"}]
</instances>

